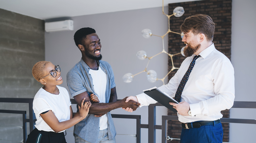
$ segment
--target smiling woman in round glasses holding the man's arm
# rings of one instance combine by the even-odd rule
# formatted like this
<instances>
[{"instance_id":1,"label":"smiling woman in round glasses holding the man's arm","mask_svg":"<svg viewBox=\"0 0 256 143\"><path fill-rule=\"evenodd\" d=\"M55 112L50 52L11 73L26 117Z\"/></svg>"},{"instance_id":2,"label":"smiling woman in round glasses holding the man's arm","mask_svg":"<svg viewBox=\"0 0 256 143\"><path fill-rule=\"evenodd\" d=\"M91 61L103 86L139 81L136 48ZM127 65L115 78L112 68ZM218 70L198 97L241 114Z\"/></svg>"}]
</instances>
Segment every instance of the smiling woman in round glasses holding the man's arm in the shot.
<instances>
[{"instance_id":1,"label":"smiling woman in round glasses holding the man's arm","mask_svg":"<svg viewBox=\"0 0 256 143\"><path fill-rule=\"evenodd\" d=\"M84 103L84 98L79 112L73 116L68 91L58 86L63 82L60 66L47 61L37 62L32 74L44 87L40 88L34 97L36 128L28 135L26 143L66 143L64 131L88 115L91 102Z\"/></svg>"}]
</instances>

